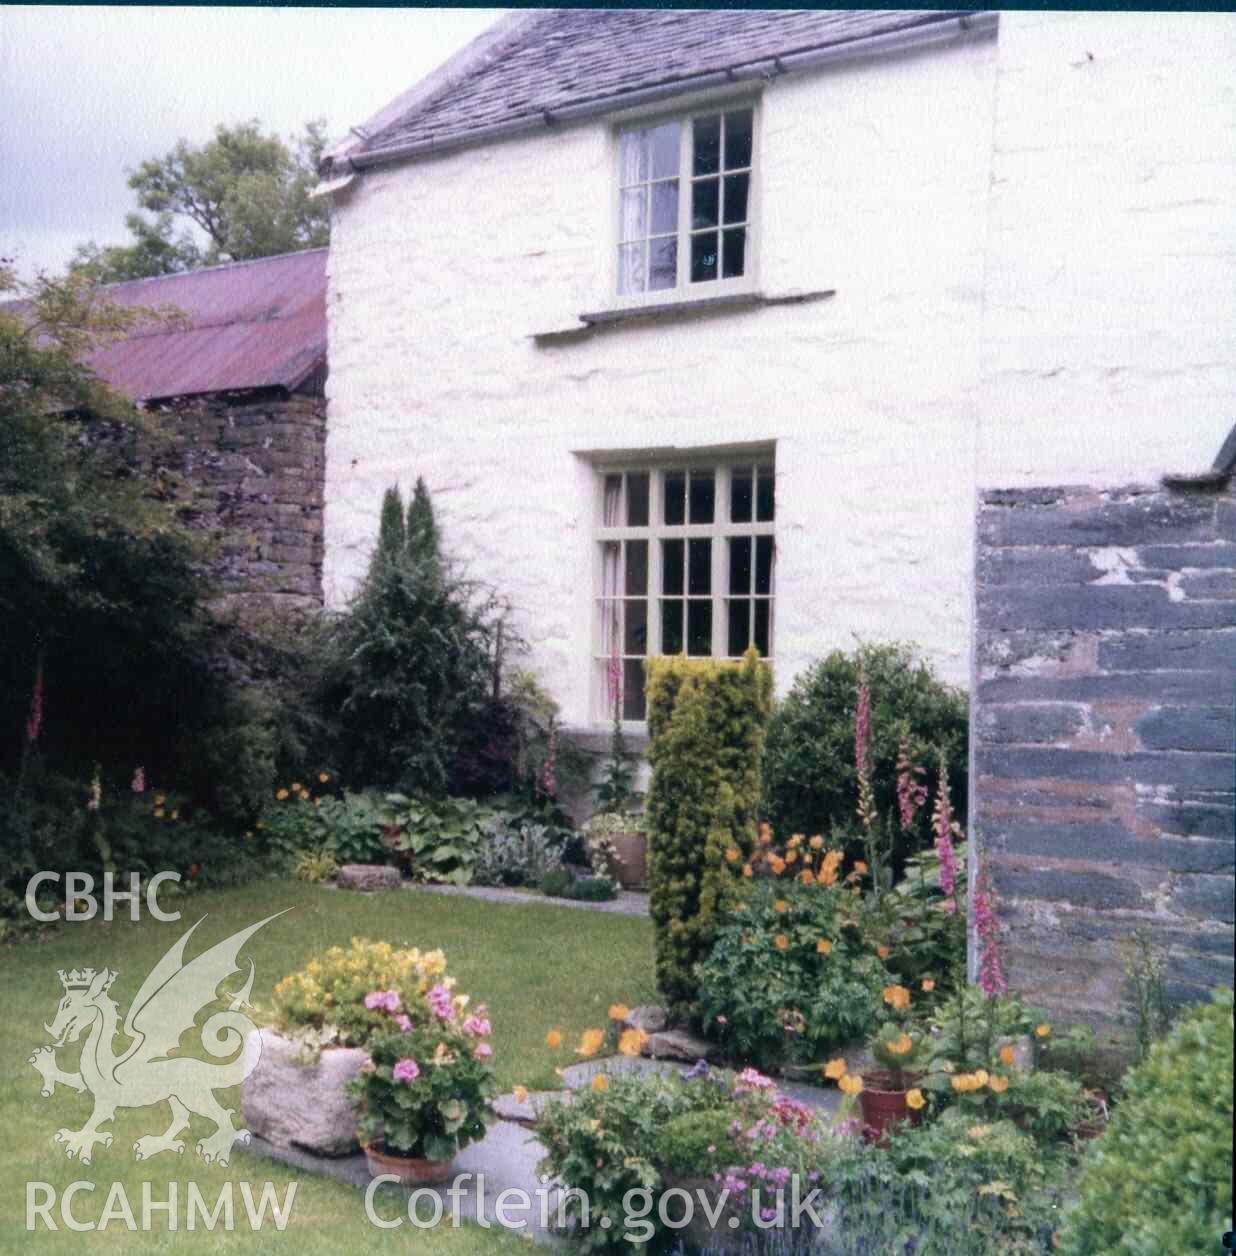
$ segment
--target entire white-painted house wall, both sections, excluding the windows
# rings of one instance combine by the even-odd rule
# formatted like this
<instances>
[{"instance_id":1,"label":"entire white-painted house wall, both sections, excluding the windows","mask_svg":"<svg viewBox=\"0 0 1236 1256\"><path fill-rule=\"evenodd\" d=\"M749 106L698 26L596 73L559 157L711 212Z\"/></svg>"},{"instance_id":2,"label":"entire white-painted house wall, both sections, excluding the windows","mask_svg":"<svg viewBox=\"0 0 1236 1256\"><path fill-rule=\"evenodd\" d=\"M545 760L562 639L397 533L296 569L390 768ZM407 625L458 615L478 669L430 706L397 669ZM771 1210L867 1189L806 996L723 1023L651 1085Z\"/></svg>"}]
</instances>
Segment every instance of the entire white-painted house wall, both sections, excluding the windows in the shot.
<instances>
[{"instance_id":1,"label":"entire white-painted house wall, both sections, excluding the windows","mask_svg":"<svg viewBox=\"0 0 1236 1256\"><path fill-rule=\"evenodd\" d=\"M966 683L980 482L1200 468L1236 417L1232 30L1006 14L999 43L775 79L757 288L837 295L573 343L533 335L614 304L608 122L367 170L329 263L328 603L383 490L423 475L448 548L588 725L592 458L770 442L778 690L855 634ZM1098 69L1070 64L1087 49Z\"/></svg>"}]
</instances>

